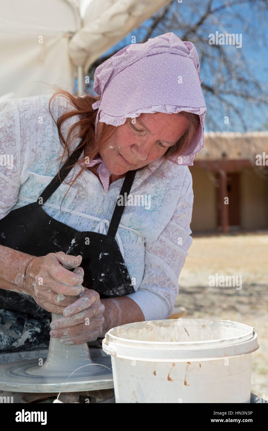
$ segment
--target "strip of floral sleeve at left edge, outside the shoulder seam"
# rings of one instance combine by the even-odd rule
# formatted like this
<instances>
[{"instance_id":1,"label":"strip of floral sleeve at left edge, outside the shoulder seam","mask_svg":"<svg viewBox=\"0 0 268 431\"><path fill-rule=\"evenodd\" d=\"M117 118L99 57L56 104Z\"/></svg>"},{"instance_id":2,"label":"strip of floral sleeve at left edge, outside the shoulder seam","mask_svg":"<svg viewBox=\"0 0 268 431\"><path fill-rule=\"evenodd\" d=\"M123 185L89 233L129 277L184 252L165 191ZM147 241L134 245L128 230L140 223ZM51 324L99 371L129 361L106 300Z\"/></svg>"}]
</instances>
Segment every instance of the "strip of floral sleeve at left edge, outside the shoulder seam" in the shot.
<instances>
[{"instance_id":1,"label":"strip of floral sleeve at left edge, outside the shoulder seam","mask_svg":"<svg viewBox=\"0 0 268 431\"><path fill-rule=\"evenodd\" d=\"M0 103L0 219L18 200L22 162L18 106L6 100Z\"/></svg>"}]
</instances>

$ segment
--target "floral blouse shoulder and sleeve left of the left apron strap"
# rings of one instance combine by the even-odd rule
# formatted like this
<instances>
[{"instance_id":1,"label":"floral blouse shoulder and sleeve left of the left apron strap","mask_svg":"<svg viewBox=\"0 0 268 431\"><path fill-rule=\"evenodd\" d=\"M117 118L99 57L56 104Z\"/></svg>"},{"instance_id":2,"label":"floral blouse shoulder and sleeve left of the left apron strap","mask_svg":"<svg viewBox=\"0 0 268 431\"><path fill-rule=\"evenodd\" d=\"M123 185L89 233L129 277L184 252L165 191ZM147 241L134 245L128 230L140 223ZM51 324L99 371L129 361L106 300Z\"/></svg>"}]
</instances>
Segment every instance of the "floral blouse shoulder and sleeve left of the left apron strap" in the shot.
<instances>
[{"instance_id":1,"label":"floral blouse shoulder and sleeve left of the left apron strap","mask_svg":"<svg viewBox=\"0 0 268 431\"><path fill-rule=\"evenodd\" d=\"M51 116L50 97L22 97L0 103L0 219L17 203L20 187L31 172L44 175L51 162L62 156L63 146L52 116L56 120L73 107L65 97L55 97L50 105ZM73 116L64 122L65 138L78 120Z\"/></svg>"}]
</instances>

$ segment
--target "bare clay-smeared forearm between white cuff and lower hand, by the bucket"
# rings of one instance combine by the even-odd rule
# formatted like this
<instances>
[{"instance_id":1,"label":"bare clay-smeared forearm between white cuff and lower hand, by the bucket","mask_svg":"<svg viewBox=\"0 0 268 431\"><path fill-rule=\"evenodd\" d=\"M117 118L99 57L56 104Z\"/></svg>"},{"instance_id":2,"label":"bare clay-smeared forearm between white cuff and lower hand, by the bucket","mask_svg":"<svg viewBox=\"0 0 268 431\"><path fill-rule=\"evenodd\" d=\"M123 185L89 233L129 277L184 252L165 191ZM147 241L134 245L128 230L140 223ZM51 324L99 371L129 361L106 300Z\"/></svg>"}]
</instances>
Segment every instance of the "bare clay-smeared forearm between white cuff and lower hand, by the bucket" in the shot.
<instances>
[{"instance_id":1,"label":"bare clay-smeared forearm between white cuff and lower hand, by the bucket","mask_svg":"<svg viewBox=\"0 0 268 431\"><path fill-rule=\"evenodd\" d=\"M145 317L138 304L128 297L117 297L102 299L105 306L103 316L105 319L105 329L102 337L109 329L126 323L144 322Z\"/></svg>"}]
</instances>

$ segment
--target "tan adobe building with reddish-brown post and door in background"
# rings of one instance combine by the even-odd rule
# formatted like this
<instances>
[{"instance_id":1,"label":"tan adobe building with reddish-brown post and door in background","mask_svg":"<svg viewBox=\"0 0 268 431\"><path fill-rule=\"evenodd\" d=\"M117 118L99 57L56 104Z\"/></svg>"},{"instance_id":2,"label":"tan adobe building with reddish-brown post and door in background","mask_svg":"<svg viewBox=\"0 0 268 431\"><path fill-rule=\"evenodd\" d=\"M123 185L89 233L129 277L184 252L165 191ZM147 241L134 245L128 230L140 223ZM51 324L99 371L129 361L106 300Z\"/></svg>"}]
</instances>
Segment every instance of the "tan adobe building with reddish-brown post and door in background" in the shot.
<instances>
[{"instance_id":1,"label":"tan adobe building with reddish-brown post and door in background","mask_svg":"<svg viewBox=\"0 0 268 431\"><path fill-rule=\"evenodd\" d=\"M268 228L268 131L207 132L189 169L192 232Z\"/></svg>"}]
</instances>

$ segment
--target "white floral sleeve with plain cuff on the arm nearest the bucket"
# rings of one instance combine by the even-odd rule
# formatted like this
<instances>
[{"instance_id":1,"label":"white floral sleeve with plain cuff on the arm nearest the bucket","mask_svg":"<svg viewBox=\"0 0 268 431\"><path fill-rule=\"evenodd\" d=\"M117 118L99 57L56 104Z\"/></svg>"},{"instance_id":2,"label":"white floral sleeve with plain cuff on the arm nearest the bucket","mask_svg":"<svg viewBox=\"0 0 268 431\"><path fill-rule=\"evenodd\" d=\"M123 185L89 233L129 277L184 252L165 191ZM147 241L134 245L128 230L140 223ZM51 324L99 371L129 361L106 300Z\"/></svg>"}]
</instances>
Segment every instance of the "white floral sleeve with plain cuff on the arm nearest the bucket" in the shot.
<instances>
[{"instance_id":1,"label":"white floral sleeve with plain cuff on the arm nearest the bucket","mask_svg":"<svg viewBox=\"0 0 268 431\"><path fill-rule=\"evenodd\" d=\"M178 278L192 244L193 207L191 172L187 169L171 219L156 241L145 243L145 272L139 289L126 295L134 300L145 320L167 319L179 293Z\"/></svg>"}]
</instances>

